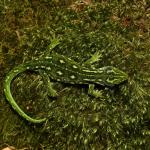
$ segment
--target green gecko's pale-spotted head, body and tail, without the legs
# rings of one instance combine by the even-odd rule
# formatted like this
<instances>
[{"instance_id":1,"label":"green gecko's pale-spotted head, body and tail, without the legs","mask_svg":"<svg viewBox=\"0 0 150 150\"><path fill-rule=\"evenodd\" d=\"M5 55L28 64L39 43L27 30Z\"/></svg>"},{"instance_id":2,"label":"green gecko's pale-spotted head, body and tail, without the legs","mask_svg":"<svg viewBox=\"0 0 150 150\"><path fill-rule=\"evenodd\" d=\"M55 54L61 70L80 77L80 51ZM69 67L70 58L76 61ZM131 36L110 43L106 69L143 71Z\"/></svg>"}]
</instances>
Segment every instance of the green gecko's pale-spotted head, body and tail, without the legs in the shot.
<instances>
[{"instance_id":1,"label":"green gecko's pale-spotted head, body and tail, without the legs","mask_svg":"<svg viewBox=\"0 0 150 150\"><path fill-rule=\"evenodd\" d=\"M32 123L41 123L46 120L34 119L28 116L15 102L10 91L12 80L20 73L26 70L44 70L44 72L53 80L70 83L70 84L99 84L103 86L114 86L127 80L128 76L123 71L112 67L105 66L99 69L89 69L79 65L77 62L53 53L49 57L32 60L21 64L12 69L4 81L4 93L6 99L14 110L23 118Z\"/></svg>"}]
</instances>

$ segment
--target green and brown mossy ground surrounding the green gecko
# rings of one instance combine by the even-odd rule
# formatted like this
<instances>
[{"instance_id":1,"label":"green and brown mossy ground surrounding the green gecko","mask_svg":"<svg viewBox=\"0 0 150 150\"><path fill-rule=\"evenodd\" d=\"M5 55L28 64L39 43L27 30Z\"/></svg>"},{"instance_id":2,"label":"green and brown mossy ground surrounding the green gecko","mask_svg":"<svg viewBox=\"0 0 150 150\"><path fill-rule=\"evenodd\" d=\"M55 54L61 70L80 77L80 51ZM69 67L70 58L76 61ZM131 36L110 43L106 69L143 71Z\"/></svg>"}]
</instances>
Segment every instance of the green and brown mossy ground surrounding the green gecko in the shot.
<instances>
[{"instance_id":1,"label":"green and brown mossy ground surrounding the green gecko","mask_svg":"<svg viewBox=\"0 0 150 150\"><path fill-rule=\"evenodd\" d=\"M0 149L150 149L148 0L5 0L0 20ZM59 96L52 99L38 74L21 74L12 85L17 103L30 116L49 116L33 125L11 109L3 81L14 66L48 53L54 34L57 53L82 63L99 51L95 67L113 65L129 79L97 87L100 98L87 95L87 87L55 82Z\"/></svg>"}]
</instances>

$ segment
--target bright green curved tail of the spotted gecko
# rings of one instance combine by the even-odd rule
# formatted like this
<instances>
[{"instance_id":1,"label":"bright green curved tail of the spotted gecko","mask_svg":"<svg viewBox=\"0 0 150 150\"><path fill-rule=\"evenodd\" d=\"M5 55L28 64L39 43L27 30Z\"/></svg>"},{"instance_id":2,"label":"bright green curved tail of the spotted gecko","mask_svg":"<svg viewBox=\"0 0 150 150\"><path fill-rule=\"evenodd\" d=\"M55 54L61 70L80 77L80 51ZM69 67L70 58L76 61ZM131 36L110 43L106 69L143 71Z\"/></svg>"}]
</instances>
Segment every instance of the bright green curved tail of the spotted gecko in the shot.
<instances>
[{"instance_id":1,"label":"bright green curved tail of the spotted gecko","mask_svg":"<svg viewBox=\"0 0 150 150\"><path fill-rule=\"evenodd\" d=\"M13 107L13 109L24 119L26 119L29 122L32 123L41 123L43 121L46 120L46 118L43 119L34 119L31 118L30 116L28 116L19 106L18 104L15 102L14 98L12 97L11 94L11 90L10 90L10 85L12 80L20 73L26 71L27 69L29 69L28 64L24 64L24 65L19 65L17 67L15 67L14 69L12 69L6 76L5 81L4 81L4 93L6 96L6 99L8 100L8 102L10 103L10 105Z\"/></svg>"}]
</instances>

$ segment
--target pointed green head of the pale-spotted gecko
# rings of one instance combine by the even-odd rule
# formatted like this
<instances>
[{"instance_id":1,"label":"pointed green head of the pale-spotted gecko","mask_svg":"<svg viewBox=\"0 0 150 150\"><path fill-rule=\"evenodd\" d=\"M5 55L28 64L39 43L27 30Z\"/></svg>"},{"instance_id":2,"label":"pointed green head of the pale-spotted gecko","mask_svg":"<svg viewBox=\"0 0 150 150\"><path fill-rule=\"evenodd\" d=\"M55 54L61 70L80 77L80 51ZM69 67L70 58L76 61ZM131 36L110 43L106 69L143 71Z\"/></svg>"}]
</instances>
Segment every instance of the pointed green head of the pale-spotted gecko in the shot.
<instances>
[{"instance_id":1,"label":"pointed green head of the pale-spotted gecko","mask_svg":"<svg viewBox=\"0 0 150 150\"><path fill-rule=\"evenodd\" d=\"M128 75L125 72L112 66L105 67L105 73L105 82L108 86L120 84L128 79Z\"/></svg>"}]
</instances>

